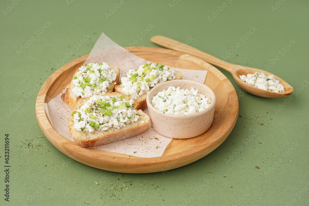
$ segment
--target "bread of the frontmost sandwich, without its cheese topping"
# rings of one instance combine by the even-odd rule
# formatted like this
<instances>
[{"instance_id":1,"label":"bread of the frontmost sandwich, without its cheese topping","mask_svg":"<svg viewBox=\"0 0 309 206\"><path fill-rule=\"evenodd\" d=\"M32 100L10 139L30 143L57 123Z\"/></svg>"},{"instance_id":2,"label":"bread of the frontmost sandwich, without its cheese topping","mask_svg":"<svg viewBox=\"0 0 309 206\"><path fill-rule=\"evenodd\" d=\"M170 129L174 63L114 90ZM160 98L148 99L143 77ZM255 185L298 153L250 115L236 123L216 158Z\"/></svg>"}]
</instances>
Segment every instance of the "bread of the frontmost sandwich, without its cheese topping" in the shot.
<instances>
[{"instance_id":1,"label":"bread of the frontmost sandwich, without its cheese topping","mask_svg":"<svg viewBox=\"0 0 309 206\"><path fill-rule=\"evenodd\" d=\"M123 94L120 92L112 92L112 93L106 93L102 96L106 96L106 95L110 97L111 96L120 97ZM124 99L130 100L130 98L127 95L124 95L124 96L125 96ZM77 98L74 111L77 111L89 99L90 97L83 98L83 99ZM134 107L132 107L132 109L134 109ZM93 132L77 131L77 129L74 128L74 122L73 122L74 117L71 116L69 120L70 133L74 141L81 147L96 147L96 146L105 145L111 142L124 140L130 137L137 136L145 132L148 128L149 116L146 113L144 113L142 110L138 110L137 113L141 116L139 116L136 122L130 122L128 124L125 124L124 127L121 127L119 129L111 127L105 131L95 129Z\"/></svg>"}]
</instances>

